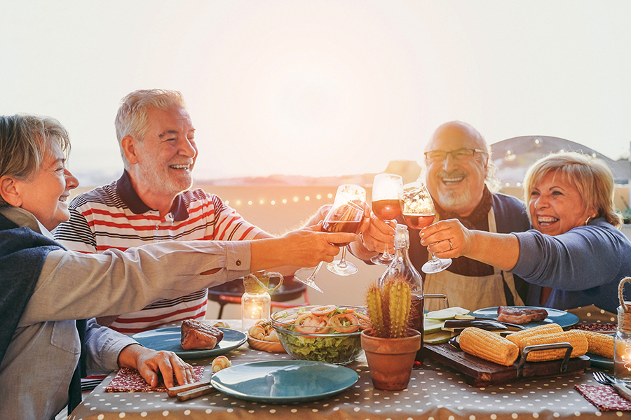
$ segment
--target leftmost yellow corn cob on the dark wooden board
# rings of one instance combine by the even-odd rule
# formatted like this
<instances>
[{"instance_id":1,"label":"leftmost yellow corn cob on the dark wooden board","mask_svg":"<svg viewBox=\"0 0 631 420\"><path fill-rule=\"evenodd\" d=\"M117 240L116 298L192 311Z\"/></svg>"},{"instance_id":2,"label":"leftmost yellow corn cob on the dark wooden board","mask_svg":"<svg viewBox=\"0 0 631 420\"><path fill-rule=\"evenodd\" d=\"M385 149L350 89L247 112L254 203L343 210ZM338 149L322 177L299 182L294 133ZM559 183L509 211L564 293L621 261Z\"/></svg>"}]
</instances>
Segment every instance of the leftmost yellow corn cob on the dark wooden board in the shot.
<instances>
[{"instance_id":1,"label":"leftmost yellow corn cob on the dark wooden board","mask_svg":"<svg viewBox=\"0 0 631 420\"><path fill-rule=\"evenodd\" d=\"M459 344L466 353L504 366L513 365L520 355L519 347L508 339L475 327L462 330Z\"/></svg>"}]
</instances>

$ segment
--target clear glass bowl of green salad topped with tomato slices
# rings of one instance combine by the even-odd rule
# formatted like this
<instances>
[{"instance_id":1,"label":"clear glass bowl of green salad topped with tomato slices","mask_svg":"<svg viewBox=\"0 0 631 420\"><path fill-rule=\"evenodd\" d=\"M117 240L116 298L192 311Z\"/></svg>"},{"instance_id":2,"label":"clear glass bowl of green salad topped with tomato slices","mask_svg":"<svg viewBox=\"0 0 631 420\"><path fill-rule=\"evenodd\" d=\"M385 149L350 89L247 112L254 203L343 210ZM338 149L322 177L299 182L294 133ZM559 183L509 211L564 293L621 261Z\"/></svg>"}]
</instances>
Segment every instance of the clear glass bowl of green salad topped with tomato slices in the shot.
<instances>
[{"instance_id":1,"label":"clear glass bowl of green salad topped with tomato slices","mask_svg":"<svg viewBox=\"0 0 631 420\"><path fill-rule=\"evenodd\" d=\"M361 332L370 328L368 310L337 304L275 312L271 322L293 358L346 365L362 354Z\"/></svg>"}]
</instances>

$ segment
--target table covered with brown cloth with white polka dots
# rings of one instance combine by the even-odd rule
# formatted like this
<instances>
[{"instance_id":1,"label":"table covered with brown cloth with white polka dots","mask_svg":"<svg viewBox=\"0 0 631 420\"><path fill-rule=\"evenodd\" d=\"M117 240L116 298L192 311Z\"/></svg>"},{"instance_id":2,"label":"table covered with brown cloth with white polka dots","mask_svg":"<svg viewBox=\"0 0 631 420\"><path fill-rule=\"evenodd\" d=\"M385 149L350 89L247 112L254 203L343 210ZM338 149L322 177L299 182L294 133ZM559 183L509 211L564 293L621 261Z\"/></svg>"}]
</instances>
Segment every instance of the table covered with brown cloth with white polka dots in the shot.
<instances>
[{"instance_id":1,"label":"table covered with brown cloth with white polka dots","mask_svg":"<svg viewBox=\"0 0 631 420\"><path fill-rule=\"evenodd\" d=\"M585 321L586 316L581 318ZM239 320L221 321L227 322L230 328L240 330ZM168 326L178 325L173 323ZM225 356L233 366L292 360L287 353L260 351L247 342L231 349ZM204 367L202 377L208 380L212 374L210 366L213 359L214 356L187 361L194 367ZM116 375L116 372L111 372L93 391L83 395L83 401L69 419L557 420L618 419L630 414L619 409L600 411L576 388L598 385L592 372L604 370L612 374L608 365L592 365L580 374L557 374L506 384L472 386L461 372L426 357L420 368L412 370L409 384L402 391L374 388L364 356L345 367L358 375L358 380L349 388L323 399L281 403L244 400L217 390L186 401L169 397L165 391L106 392Z\"/></svg>"}]
</instances>

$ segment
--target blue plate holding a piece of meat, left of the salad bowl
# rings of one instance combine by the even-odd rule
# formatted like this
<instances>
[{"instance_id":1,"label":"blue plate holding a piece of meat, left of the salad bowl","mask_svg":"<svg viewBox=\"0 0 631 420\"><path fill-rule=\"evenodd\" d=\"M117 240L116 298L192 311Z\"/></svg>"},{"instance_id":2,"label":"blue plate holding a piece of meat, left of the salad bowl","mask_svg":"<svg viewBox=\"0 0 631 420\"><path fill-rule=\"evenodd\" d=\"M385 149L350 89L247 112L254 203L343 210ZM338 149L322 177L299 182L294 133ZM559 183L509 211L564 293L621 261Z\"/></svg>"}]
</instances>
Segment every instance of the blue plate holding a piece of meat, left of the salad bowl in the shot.
<instances>
[{"instance_id":1,"label":"blue plate holding a piece of meat, left of the salad bowl","mask_svg":"<svg viewBox=\"0 0 631 420\"><path fill-rule=\"evenodd\" d=\"M182 328L180 327L158 328L157 330L138 332L132 335L132 338L148 349L174 351L177 356L185 360L219 356L236 349L246 341L243 332L230 330L229 328L219 328L219 330L224 332L224 338L217 343L214 349L210 350L182 349L182 346L179 345L182 339Z\"/></svg>"}]
</instances>

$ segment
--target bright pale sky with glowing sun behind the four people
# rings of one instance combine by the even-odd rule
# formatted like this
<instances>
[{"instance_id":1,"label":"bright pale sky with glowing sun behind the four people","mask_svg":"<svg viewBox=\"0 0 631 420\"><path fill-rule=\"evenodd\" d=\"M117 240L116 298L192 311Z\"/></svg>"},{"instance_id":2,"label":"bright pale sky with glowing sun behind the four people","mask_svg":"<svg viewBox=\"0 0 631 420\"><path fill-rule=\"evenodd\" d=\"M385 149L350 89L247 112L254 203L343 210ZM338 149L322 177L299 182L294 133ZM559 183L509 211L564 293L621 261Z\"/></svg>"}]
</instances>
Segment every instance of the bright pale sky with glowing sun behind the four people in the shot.
<instances>
[{"instance_id":1,"label":"bright pale sky with glowing sun behind the four people","mask_svg":"<svg viewBox=\"0 0 631 420\"><path fill-rule=\"evenodd\" d=\"M626 0L1 2L0 113L60 120L80 180L120 174L150 87L184 94L197 179L381 172L456 119L629 151Z\"/></svg>"}]
</instances>

